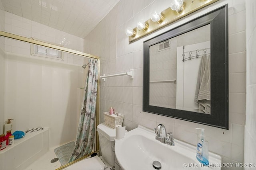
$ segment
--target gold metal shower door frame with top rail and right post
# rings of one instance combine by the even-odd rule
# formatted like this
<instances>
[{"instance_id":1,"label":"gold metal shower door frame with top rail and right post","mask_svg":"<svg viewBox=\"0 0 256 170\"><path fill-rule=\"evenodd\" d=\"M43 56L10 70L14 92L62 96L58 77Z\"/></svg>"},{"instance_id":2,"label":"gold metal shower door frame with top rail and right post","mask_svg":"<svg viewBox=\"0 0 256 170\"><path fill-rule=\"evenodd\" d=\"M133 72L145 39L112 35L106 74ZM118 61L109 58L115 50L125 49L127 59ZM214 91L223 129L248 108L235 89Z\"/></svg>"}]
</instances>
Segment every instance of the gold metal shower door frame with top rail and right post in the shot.
<instances>
[{"instance_id":1,"label":"gold metal shower door frame with top rail and right post","mask_svg":"<svg viewBox=\"0 0 256 170\"><path fill-rule=\"evenodd\" d=\"M27 43L31 43L31 44L35 44L35 45L40 45L40 46L43 46L43 47L56 49L56 50L59 50L59 51L70 53L70 54L79 55L79 56L84 57L84 58L97 60L98 61L98 87L97 87L97 107L96 107L96 126L95 127L97 127L99 125L99 123L100 123L100 57L95 56L95 55L91 55L91 54L88 54L88 53L83 53L81 51L76 51L76 50L68 49L68 48L65 48L65 47L60 47L58 45L53 45L53 44L50 44L50 43L38 41L38 40L35 40L35 39L22 37L20 35L4 32L4 31L0 31L0 36L6 37L6 38L11 38L11 39L16 39L16 40L19 40L19 41L23 41L23 42L27 42ZM94 148L95 148L95 146L94 146ZM84 158L87 158L91 154L98 153L98 152L99 152L99 137L98 137L98 132L96 131L96 151L94 151L90 154L87 154L87 155L83 156L82 158L74 160L73 162L70 162L70 163L68 163L64 166L61 166L60 168L57 168L56 170L62 170L63 168L66 168L67 166L70 166L71 164L74 164L75 162L78 162L78 161L80 161Z\"/></svg>"}]
</instances>

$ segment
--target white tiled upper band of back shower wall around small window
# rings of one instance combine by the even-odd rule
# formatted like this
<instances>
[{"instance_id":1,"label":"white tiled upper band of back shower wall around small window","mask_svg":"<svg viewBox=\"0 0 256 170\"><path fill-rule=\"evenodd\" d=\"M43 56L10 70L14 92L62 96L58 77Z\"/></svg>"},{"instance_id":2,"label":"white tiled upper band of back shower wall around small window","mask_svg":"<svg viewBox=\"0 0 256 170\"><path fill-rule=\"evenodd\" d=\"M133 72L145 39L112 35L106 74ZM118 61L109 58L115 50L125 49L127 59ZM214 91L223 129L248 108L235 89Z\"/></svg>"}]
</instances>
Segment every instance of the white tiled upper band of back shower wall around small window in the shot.
<instances>
[{"instance_id":1,"label":"white tiled upper band of back shower wall around small window","mask_svg":"<svg viewBox=\"0 0 256 170\"><path fill-rule=\"evenodd\" d=\"M67 47L77 51L81 51L83 49L83 41L81 38L37 23L35 21L22 18L9 12L5 12L4 31L23 37L32 37L36 40L54 43L55 45ZM5 51L22 55L30 55L30 44L11 39L5 39ZM81 65L84 62L83 57L68 53L62 53L62 59L63 61L60 61L60 63Z\"/></svg>"}]
</instances>

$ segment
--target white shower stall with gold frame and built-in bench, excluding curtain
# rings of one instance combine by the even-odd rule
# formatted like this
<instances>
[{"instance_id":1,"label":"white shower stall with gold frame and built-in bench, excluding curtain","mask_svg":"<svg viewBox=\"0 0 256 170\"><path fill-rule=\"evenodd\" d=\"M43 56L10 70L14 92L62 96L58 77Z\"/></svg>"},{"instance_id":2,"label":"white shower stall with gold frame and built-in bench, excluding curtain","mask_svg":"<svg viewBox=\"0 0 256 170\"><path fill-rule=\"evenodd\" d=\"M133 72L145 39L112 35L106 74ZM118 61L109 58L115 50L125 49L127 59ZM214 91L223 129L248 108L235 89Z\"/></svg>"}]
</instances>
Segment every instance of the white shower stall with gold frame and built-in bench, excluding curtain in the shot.
<instances>
[{"instance_id":1,"label":"white shower stall with gold frame and built-in bench, excluding curtain","mask_svg":"<svg viewBox=\"0 0 256 170\"><path fill-rule=\"evenodd\" d=\"M43 128L28 131L0 151L0 159L6 162L0 169L23 170L49 150L75 141L88 59L98 61L100 75L100 57L4 31L0 31L0 42L0 131L10 118L14 119L12 132ZM95 127L99 124L100 81L97 89ZM97 135L94 141L97 152Z\"/></svg>"}]
</instances>

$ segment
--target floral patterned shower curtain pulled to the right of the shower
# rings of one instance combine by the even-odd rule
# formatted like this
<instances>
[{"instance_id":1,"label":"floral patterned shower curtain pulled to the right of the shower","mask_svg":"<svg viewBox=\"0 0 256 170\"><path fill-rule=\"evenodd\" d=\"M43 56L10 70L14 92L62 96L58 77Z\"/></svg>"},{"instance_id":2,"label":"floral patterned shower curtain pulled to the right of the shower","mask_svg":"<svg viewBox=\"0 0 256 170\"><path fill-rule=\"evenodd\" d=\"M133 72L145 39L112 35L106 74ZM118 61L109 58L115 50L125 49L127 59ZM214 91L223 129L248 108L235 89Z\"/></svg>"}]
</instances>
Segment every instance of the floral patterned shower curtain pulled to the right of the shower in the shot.
<instances>
[{"instance_id":1,"label":"floral patterned shower curtain pulled to the right of the shower","mask_svg":"<svg viewBox=\"0 0 256 170\"><path fill-rule=\"evenodd\" d=\"M67 163L92 152L95 134L97 104L98 62L89 60L89 70L84 86L84 97L76 135L76 144Z\"/></svg>"}]
</instances>

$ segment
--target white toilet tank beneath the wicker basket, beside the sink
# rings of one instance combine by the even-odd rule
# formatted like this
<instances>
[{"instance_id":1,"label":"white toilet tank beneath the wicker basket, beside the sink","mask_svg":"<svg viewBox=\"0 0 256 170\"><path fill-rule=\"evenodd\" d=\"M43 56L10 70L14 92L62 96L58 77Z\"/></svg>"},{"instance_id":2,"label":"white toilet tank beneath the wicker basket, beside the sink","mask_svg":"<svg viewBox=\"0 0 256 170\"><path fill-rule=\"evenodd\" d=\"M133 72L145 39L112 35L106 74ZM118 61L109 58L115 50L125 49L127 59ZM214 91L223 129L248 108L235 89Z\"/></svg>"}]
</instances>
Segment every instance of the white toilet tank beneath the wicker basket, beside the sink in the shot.
<instances>
[{"instance_id":1,"label":"white toilet tank beneath the wicker basket, beside the sink","mask_svg":"<svg viewBox=\"0 0 256 170\"><path fill-rule=\"evenodd\" d=\"M112 146L115 145L114 138L116 137L116 129L113 129L105 123L101 123L97 127L100 139L100 149L102 158L111 166L115 165L115 155L112 151ZM113 147L114 149L114 147Z\"/></svg>"}]
</instances>

